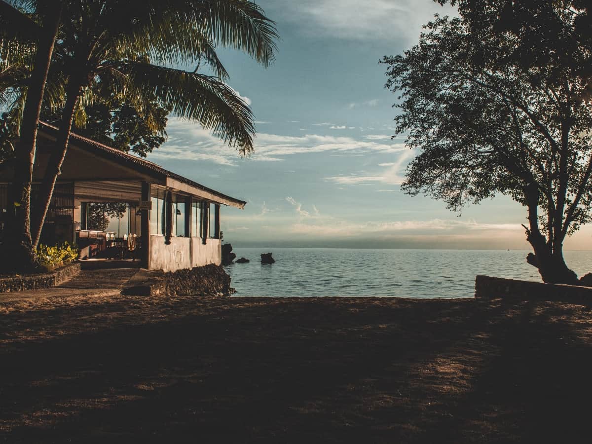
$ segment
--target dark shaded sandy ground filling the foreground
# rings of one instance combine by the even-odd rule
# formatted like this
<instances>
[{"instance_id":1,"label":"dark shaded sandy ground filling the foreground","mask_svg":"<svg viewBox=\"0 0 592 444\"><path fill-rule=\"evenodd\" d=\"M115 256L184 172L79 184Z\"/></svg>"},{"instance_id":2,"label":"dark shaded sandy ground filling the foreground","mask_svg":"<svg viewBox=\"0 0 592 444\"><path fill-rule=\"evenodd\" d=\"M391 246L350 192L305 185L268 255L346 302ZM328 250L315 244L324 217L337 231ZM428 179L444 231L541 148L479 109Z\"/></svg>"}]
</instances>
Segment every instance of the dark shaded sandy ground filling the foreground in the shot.
<instances>
[{"instance_id":1,"label":"dark shaded sandy ground filling the foreground","mask_svg":"<svg viewBox=\"0 0 592 444\"><path fill-rule=\"evenodd\" d=\"M0 304L0 442L590 442L591 365L582 305Z\"/></svg>"}]
</instances>

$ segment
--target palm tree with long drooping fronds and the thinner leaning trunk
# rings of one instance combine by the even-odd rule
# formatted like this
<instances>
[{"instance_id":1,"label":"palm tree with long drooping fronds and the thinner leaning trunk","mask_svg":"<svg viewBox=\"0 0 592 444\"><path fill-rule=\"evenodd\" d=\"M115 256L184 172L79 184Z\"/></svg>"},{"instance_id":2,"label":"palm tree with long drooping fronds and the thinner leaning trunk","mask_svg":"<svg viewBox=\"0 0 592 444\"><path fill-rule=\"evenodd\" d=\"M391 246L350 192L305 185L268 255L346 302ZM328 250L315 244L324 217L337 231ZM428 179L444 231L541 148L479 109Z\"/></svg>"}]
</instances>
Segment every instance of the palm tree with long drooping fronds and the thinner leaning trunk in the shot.
<instances>
[{"instance_id":1,"label":"palm tree with long drooping fronds and the thinner leaning trunk","mask_svg":"<svg viewBox=\"0 0 592 444\"><path fill-rule=\"evenodd\" d=\"M35 9L42 2L20 3ZM229 76L215 47L242 50L267 65L274 58L276 37L274 22L247 0L66 2L50 73L53 91L63 93L57 102L52 95L56 103L50 105L62 115L33 215L32 244L38 242L70 130L74 123L85 126L87 105L125 97L122 105L139 113L151 130L160 118L153 111L165 108L213 130L241 155L252 152L252 114L226 84ZM198 68L172 67L180 65ZM201 73L200 66L214 75ZM159 106L150 106L152 102Z\"/></svg>"}]
</instances>

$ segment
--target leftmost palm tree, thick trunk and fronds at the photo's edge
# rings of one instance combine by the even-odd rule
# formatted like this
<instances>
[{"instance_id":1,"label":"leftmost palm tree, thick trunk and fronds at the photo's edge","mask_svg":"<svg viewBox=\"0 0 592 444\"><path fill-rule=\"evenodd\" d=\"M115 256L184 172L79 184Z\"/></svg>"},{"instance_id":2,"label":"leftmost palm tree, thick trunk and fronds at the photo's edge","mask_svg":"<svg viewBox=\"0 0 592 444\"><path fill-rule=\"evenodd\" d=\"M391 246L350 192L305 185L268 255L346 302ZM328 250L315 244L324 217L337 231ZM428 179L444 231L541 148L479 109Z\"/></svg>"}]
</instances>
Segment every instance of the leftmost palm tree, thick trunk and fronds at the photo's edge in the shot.
<instances>
[{"instance_id":1,"label":"leftmost palm tree, thick trunk and fronds at the photo's edge","mask_svg":"<svg viewBox=\"0 0 592 444\"><path fill-rule=\"evenodd\" d=\"M6 105L11 83L14 85L22 79L24 66L32 62L30 77L22 85L27 89L27 95L22 105L20 139L15 147L14 178L8 196L5 230L9 235L4 236L2 242L3 249L11 254L2 255L0 260L5 271L30 271L38 266L31 240L31 181L39 114L62 9L62 1L45 2L37 9L38 25L18 9L0 1L4 56L0 73L0 85L4 86L0 94L1 105ZM36 52L31 50L34 45L37 46Z\"/></svg>"}]
</instances>

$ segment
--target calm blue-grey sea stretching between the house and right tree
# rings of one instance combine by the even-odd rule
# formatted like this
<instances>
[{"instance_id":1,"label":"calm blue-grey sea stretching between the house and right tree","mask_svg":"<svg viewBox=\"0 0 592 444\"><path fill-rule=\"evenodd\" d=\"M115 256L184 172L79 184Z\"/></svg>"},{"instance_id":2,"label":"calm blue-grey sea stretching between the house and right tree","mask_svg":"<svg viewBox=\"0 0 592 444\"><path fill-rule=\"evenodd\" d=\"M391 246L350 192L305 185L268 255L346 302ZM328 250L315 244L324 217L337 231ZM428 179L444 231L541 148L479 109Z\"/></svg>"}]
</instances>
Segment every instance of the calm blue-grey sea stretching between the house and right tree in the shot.
<instances>
[{"instance_id":1,"label":"calm blue-grey sea stretching between the house and right tree","mask_svg":"<svg viewBox=\"0 0 592 444\"><path fill-rule=\"evenodd\" d=\"M260 263L272 252L276 262ZM225 266L235 296L472 297L478 274L540 281L523 250L376 250L235 247ZM592 251L567 251L578 276L592 271Z\"/></svg>"}]
</instances>

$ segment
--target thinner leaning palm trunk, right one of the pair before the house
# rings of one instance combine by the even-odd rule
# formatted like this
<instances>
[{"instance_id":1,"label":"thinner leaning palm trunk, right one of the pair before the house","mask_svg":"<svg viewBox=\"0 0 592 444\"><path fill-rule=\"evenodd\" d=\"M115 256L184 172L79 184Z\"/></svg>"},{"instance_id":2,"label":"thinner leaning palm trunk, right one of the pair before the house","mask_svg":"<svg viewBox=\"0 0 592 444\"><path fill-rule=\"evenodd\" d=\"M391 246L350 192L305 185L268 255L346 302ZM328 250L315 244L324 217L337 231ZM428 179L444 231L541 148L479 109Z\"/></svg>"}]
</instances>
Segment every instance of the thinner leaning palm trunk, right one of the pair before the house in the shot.
<instances>
[{"instance_id":1,"label":"thinner leaning palm trunk, right one of the pair before the house","mask_svg":"<svg viewBox=\"0 0 592 444\"><path fill-rule=\"evenodd\" d=\"M76 103L78 102L81 89L82 86L76 81L75 76L70 77L70 82L66 89L66 105L62 113L62 121L60 122L60 128L57 133L56 147L47 162L47 169L39 189L35 212L36 217L34 217L32 231L34 247L37 247L37 244L39 243L47 210L49 210L49 205L52 201L53 189L56 186L57 176L61 173L60 168L62 168L62 163L66 157L70 140L70 130L72 130Z\"/></svg>"}]
</instances>

